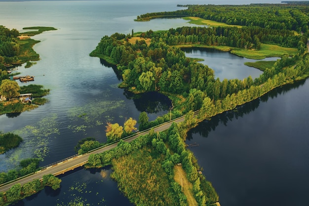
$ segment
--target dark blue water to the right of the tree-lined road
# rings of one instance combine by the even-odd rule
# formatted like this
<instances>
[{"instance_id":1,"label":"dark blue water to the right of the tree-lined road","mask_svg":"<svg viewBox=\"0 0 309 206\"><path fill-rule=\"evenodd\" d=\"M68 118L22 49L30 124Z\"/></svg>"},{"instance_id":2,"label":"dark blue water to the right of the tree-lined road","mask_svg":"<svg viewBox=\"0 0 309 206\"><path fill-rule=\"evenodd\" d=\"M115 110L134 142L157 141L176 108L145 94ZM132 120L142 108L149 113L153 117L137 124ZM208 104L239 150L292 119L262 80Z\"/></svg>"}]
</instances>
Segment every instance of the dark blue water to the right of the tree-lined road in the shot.
<instances>
[{"instance_id":1,"label":"dark blue water to the right of the tree-lined road","mask_svg":"<svg viewBox=\"0 0 309 206\"><path fill-rule=\"evenodd\" d=\"M278 87L188 132L221 205L307 204L308 88L308 80Z\"/></svg>"}]
</instances>

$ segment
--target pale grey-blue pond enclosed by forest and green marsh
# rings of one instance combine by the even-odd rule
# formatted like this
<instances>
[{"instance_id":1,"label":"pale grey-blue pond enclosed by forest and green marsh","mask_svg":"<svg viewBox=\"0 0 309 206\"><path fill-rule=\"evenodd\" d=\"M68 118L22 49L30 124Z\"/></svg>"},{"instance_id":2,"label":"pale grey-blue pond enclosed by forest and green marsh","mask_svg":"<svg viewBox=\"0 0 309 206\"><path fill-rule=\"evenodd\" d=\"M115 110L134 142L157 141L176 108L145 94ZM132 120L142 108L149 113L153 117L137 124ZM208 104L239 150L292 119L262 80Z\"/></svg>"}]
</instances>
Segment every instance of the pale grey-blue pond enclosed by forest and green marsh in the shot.
<instances>
[{"instance_id":1,"label":"pale grey-blue pond enclosed by forest and green marsh","mask_svg":"<svg viewBox=\"0 0 309 206\"><path fill-rule=\"evenodd\" d=\"M215 79L219 78L220 81L224 79L243 80L249 76L252 79L259 77L263 72L244 65L245 62L255 62L258 60L247 59L244 57L236 56L230 52L220 51L212 48L182 48L187 57L204 59L199 63L207 65L214 70ZM275 61L277 57L265 58L265 61Z\"/></svg>"}]
</instances>

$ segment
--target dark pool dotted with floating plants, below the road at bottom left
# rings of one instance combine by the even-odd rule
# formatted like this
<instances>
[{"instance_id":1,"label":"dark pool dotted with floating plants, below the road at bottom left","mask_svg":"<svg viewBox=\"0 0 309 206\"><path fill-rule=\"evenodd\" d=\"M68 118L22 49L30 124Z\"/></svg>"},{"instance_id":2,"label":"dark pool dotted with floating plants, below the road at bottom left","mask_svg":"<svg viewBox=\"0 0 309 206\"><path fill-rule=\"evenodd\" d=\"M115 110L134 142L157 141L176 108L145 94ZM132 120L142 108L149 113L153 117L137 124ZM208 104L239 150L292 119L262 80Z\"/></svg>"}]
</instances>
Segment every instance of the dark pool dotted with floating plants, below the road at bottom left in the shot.
<instances>
[{"instance_id":1,"label":"dark pool dotted with floating plants, below the road at bottom left","mask_svg":"<svg viewBox=\"0 0 309 206\"><path fill-rule=\"evenodd\" d=\"M78 167L59 175L61 187L54 191L50 187L25 198L14 206L65 206L80 201L84 205L122 205L133 206L117 189L117 183L111 179L111 166L94 169Z\"/></svg>"}]
</instances>

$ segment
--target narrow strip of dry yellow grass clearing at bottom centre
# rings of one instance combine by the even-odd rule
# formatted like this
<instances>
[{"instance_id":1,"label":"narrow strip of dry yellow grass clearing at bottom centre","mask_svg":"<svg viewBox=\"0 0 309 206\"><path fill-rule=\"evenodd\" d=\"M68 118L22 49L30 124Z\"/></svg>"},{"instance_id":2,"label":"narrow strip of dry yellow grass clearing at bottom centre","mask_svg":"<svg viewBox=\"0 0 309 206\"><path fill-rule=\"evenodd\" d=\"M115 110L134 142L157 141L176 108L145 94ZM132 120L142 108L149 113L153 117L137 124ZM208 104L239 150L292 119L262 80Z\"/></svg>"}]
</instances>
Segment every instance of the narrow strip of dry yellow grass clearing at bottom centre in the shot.
<instances>
[{"instance_id":1,"label":"narrow strip of dry yellow grass clearing at bottom centre","mask_svg":"<svg viewBox=\"0 0 309 206\"><path fill-rule=\"evenodd\" d=\"M187 197L187 202L189 206L197 206L197 202L193 197L193 185L189 180L187 179L187 174L185 170L182 168L182 166L176 165L174 167L175 176L174 179L178 184L183 185L183 192L185 196ZM182 180L181 180L182 179Z\"/></svg>"}]
</instances>

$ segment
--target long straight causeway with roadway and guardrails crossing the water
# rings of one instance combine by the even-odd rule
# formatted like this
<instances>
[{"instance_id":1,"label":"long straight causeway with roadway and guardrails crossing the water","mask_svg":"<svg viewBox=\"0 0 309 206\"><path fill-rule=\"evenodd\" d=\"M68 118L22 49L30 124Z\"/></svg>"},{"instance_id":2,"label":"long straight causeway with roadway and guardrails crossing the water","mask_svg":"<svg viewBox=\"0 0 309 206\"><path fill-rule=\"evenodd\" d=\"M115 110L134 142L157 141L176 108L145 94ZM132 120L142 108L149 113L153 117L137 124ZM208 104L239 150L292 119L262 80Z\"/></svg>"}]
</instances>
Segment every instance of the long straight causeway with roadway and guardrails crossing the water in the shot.
<instances>
[{"instance_id":1,"label":"long straight causeway with roadway and guardrails crossing the water","mask_svg":"<svg viewBox=\"0 0 309 206\"><path fill-rule=\"evenodd\" d=\"M196 116L197 114L198 114L198 111L196 111L194 113L194 116ZM185 116L182 116L180 118L174 119L174 120L169 121L167 123L163 123L163 124L160 124L158 126L155 126L155 127L153 127L154 132L164 131L164 130L168 129L172 125L172 123L180 123L180 122L183 122L184 120L185 120ZM141 132L139 132L135 135L123 138L122 140L125 141L125 142L131 142L141 135L148 134L149 130L150 129L147 129L145 131L141 131ZM28 174L26 176L20 177L18 179L15 179L15 180L12 180L10 182L6 182L6 183L0 185L0 193L9 190L14 184L20 183L21 185L23 185L27 182L31 182L34 179L42 179L43 175L45 175L45 174L53 174L55 176L60 175L60 174L64 174L67 171L70 171L70 170L73 170L73 169L75 169L79 166L85 165L88 162L88 158L89 158L90 155L102 153L102 152L107 151L107 150L111 150L111 149L115 148L117 146L117 144L118 144L118 142L111 143L111 144L108 144L108 145L104 145L104 146L99 147L95 150L89 151L86 154L74 155L74 156L68 157L64 160L53 163L51 165L46 165L46 166L42 167L41 170L36 171L35 173Z\"/></svg>"}]
</instances>

